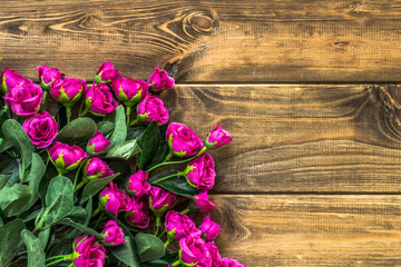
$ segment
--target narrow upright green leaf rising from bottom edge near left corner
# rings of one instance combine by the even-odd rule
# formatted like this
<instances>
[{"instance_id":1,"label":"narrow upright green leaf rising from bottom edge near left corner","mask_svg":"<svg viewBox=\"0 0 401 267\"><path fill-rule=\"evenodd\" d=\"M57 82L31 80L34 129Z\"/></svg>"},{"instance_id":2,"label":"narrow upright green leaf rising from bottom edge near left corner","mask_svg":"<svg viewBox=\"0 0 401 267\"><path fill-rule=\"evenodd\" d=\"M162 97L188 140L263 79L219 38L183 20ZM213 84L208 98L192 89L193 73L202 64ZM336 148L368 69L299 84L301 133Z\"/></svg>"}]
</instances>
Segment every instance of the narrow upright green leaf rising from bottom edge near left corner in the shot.
<instances>
[{"instance_id":1,"label":"narrow upright green leaf rising from bottom edge near left corner","mask_svg":"<svg viewBox=\"0 0 401 267\"><path fill-rule=\"evenodd\" d=\"M41 247L40 240L27 229L22 230L21 236L28 250L28 266L45 266L46 255Z\"/></svg>"}]
</instances>

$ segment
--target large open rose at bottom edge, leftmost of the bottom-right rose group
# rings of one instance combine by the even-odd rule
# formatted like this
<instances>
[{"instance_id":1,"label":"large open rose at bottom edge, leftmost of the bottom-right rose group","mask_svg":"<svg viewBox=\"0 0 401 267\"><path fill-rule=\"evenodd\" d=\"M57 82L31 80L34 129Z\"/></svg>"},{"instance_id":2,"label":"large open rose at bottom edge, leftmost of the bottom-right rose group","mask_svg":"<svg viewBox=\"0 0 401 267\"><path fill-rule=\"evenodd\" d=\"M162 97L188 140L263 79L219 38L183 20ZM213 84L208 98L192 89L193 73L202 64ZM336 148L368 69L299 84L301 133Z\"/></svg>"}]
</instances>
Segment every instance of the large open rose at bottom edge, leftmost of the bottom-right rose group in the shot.
<instances>
[{"instance_id":1,"label":"large open rose at bottom edge, leftmost of the bottom-right rose group","mask_svg":"<svg viewBox=\"0 0 401 267\"><path fill-rule=\"evenodd\" d=\"M212 267L212 255L205 240L197 235L189 235L179 240L179 260L184 265Z\"/></svg>"}]
</instances>

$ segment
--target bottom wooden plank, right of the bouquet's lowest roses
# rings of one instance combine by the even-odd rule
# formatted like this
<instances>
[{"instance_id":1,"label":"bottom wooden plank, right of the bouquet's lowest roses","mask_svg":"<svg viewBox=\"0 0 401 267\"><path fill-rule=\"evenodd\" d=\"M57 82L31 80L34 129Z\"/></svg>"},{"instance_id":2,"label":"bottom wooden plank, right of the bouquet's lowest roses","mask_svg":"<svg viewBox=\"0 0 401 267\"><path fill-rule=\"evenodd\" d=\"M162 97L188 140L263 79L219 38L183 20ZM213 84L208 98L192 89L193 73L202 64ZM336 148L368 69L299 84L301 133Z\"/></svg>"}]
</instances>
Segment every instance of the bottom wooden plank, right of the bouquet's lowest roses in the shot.
<instances>
[{"instance_id":1,"label":"bottom wooden plank, right of the bouquet's lowest roses","mask_svg":"<svg viewBox=\"0 0 401 267\"><path fill-rule=\"evenodd\" d=\"M223 257L246 266L400 266L400 196L213 196Z\"/></svg>"}]
</instances>

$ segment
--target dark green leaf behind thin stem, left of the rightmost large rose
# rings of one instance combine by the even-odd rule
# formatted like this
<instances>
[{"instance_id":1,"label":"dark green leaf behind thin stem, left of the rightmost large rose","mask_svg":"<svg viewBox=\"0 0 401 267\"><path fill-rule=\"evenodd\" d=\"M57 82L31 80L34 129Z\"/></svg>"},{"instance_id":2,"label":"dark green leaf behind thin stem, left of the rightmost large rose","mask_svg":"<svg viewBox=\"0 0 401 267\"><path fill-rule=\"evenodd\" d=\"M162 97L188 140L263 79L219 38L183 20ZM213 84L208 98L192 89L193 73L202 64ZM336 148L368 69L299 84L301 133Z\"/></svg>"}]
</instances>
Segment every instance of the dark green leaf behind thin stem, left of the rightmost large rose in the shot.
<instances>
[{"instance_id":1,"label":"dark green leaf behind thin stem, left of the rightmost large rose","mask_svg":"<svg viewBox=\"0 0 401 267\"><path fill-rule=\"evenodd\" d=\"M150 177L147 181L150 185L163 187L167 191L177 194L184 197L190 197L198 195L200 191L195 187L189 186L188 181L184 177L173 176L177 174L177 170L167 170ZM162 181L157 181L164 177L173 176Z\"/></svg>"}]
</instances>

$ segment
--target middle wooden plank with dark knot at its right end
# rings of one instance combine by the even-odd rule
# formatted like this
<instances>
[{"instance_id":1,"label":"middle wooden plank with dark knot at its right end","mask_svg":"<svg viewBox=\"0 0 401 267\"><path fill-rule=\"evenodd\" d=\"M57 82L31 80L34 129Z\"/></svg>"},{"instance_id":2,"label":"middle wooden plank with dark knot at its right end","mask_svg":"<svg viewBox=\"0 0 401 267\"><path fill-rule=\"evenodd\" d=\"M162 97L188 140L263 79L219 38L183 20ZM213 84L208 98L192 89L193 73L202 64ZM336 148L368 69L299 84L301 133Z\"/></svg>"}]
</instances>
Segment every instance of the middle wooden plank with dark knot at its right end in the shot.
<instances>
[{"instance_id":1,"label":"middle wooden plank with dark knot at its right end","mask_svg":"<svg viewBox=\"0 0 401 267\"><path fill-rule=\"evenodd\" d=\"M162 98L170 120L198 136L216 125L233 135L213 151L215 192L399 192L401 128L383 92L362 85L194 85Z\"/></svg>"}]
</instances>

